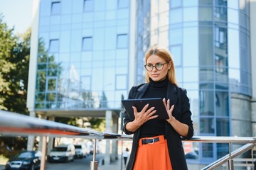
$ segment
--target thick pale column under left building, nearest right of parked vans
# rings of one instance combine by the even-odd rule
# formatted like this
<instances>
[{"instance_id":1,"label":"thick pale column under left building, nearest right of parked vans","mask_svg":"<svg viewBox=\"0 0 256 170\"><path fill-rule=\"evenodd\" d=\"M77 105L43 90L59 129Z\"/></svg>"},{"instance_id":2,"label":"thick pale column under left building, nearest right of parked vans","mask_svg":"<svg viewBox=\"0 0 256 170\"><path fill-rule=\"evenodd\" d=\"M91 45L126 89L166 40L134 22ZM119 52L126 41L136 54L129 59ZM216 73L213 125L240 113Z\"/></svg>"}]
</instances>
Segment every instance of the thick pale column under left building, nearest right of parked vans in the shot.
<instances>
[{"instance_id":1,"label":"thick pale column under left building, nearest right of parked vans","mask_svg":"<svg viewBox=\"0 0 256 170\"><path fill-rule=\"evenodd\" d=\"M112 132L111 128L111 120L112 120L112 111L106 111L105 115L106 120L106 132ZM106 154L104 157L104 163L110 164L111 158L110 158L110 140L106 140Z\"/></svg>"}]
</instances>

